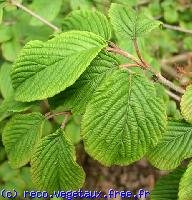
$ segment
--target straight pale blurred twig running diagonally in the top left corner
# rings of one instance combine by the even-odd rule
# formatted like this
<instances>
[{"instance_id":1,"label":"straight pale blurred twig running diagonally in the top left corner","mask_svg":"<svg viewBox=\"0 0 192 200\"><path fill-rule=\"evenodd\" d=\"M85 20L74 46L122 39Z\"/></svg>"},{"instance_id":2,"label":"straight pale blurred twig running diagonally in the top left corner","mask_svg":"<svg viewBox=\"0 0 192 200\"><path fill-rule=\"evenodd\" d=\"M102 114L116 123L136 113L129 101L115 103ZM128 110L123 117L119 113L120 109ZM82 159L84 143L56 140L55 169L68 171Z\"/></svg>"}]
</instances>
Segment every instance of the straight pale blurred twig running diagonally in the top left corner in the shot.
<instances>
[{"instance_id":1,"label":"straight pale blurred twig running diagonally in the top left corner","mask_svg":"<svg viewBox=\"0 0 192 200\"><path fill-rule=\"evenodd\" d=\"M60 29L51 24L50 22L48 22L46 19L44 19L43 17L41 17L40 15L34 13L32 10L26 8L25 6L23 6L21 3L15 1L15 0L10 0L10 3L14 6L17 6L18 8L22 9L23 11L25 11L26 13L30 14L31 16L37 18L38 20L40 20L42 23L46 24L47 26L49 26L50 28L52 28L54 31L60 31Z\"/></svg>"}]
</instances>

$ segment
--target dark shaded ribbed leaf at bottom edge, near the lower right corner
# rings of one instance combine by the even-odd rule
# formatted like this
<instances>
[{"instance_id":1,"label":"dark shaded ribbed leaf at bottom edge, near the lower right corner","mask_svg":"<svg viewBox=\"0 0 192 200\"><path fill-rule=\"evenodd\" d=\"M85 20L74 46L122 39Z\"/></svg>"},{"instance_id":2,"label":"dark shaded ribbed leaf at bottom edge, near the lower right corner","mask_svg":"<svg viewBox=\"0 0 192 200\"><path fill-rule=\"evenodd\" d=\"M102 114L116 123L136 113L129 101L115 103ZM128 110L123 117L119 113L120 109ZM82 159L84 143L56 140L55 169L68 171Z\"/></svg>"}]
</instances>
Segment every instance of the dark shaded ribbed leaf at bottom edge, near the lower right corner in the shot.
<instances>
[{"instance_id":1,"label":"dark shaded ribbed leaf at bottom edge, near the lower right corner","mask_svg":"<svg viewBox=\"0 0 192 200\"><path fill-rule=\"evenodd\" d=\"M178 168L167 176L161 177L151 193L151 200L178 199L179 182L185 170L184 168Z\"/></svg>"}]
</instances>

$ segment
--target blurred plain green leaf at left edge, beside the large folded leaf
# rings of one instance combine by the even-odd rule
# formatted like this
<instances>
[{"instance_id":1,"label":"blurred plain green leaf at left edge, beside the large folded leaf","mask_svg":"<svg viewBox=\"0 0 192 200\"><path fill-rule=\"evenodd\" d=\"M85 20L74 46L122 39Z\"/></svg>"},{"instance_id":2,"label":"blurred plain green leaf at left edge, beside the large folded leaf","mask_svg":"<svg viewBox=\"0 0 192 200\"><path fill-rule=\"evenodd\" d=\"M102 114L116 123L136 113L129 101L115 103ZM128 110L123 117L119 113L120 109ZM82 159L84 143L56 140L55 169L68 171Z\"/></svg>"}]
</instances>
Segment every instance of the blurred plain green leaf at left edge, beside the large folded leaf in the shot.
<instances>
[{"instance_id":1,"label":"blurred plain green leaf at left edge, beside the large folded leaf","mask_svg":"<svg viewBox=\"0 0 192 200\"><path fill-rule=\"evenodd\" d=\"M5 62L0 68L0 90L4 98L8 98L13 95L10 73L11 65Z\"/></svg>"}]
</instances>

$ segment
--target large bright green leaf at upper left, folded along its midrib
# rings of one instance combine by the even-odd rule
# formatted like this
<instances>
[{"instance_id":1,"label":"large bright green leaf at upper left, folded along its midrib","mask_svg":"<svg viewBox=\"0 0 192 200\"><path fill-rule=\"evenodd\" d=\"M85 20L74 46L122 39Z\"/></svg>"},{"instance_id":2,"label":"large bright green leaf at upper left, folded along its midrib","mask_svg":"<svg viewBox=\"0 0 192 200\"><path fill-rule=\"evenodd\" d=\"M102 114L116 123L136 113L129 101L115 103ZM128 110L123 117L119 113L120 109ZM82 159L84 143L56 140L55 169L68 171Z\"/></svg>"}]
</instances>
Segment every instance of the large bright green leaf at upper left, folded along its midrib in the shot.
<instances>
[{"instance_id":1,"label":"large bright green leaf at upper left, folded along its midrib","mask_svg":"<svg viewBox=\"0 0 192 200\"><path fill-rule=\"evenodd\" d=\"M29 42L12 70L16 100L41 100L65 90L106 45L102 37L85 31L62 33L47 42Z\"/></svg>"}]
</instances>

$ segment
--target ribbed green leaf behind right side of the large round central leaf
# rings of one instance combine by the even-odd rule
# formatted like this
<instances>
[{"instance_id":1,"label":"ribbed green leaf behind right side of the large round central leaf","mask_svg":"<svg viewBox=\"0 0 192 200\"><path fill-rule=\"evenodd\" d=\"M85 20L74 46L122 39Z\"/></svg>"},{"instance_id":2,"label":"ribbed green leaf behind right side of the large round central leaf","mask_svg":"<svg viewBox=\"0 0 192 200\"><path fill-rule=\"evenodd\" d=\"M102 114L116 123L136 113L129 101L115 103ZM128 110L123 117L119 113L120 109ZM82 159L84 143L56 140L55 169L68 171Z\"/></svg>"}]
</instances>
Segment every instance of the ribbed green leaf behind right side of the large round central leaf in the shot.
<instances>
[{"instance_id":1,"label":"ribbed green leaf behind right side of the large round central leaf","mask_svg":"<svg viewBox=\"0 0 192 200\"><path fill-rule=\"evenodd\" d=\"M175 169L192 156L192 125L184 121L169 121L157 146L147 153L149 161L162 170Z\"/></svg>"}]
</instances>

